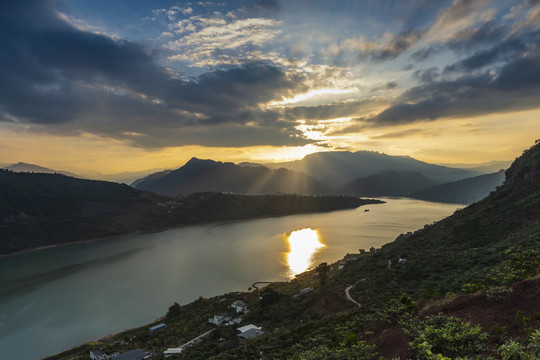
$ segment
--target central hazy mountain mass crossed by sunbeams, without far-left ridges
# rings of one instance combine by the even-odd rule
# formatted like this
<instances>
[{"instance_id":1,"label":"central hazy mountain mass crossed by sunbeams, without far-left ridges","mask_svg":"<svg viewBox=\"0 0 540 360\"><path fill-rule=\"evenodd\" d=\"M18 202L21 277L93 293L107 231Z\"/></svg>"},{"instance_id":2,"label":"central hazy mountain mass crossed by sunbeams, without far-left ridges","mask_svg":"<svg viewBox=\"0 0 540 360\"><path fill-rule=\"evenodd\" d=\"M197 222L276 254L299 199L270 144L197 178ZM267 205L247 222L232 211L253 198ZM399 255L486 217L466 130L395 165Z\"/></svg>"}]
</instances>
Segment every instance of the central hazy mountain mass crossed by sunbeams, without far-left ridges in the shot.
<instances>
[{"instance_id":1,"label":"central hazy mountain mass crossed by sunbeams, without far-left ridges","mask_svg":"<svg viewBox=\"0 0 540 360\"><path fill-rule=\"evenodd\" d=\"M323 152L302 160L264 166L192 158L176 170L154 173L131 185L168 196L198 191L407 196L426 187L478 174L406 156L369 151Z\"/></svg>"}]
</instances>

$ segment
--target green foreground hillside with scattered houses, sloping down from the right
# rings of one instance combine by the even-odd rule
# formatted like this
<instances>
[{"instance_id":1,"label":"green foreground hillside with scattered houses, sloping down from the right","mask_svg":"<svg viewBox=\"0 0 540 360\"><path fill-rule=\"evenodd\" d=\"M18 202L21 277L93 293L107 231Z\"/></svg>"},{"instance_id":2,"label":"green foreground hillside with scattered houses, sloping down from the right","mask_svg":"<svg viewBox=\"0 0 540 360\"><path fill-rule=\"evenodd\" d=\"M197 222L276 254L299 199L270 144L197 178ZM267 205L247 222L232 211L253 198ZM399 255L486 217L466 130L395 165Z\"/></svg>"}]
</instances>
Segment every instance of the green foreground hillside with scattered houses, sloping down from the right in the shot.
<instances>
[{"instance_id":1,"label":"green foreground hillside with scattered houses, sloping down from the right","mask_svg":"<svg viewBox=\"0 0 540 360\"><path fill-rule=\"evenodd\" d=\"M132 329L51 359L86 359L97 347L161 354L214 329L175 359L536 360L539 270L537 144L487 198L380 249L348 254L339 264L319 264L264 289L173 305L160 320L167 325L163 333ZM208 323L235 300L249 308L240 324ZM247 324L264 335L241 345L235 328Z\"/></svg>"}]
</instances>

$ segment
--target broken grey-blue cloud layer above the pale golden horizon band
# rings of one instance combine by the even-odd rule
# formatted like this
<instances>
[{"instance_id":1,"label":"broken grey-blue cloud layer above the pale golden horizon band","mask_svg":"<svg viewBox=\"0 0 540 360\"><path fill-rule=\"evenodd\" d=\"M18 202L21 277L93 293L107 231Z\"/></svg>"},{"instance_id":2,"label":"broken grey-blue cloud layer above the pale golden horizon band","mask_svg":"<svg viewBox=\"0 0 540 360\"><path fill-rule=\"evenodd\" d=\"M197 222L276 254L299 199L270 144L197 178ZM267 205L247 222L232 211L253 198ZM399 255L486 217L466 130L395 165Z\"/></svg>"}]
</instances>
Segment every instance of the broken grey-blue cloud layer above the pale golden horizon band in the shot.
<instances>
[{"instance_id":1,"label":"broken grey-blue cloud layer above the pale golden horizon band","mask_svg":"<svg viewBox=\"0 0 540 360\"><path fill-rule=\"evenodd\" d=\"M163 30L142 41L69 3L3 2L0 126L143 148L339 146L367 128L540 107L536 1L246 4L141 11Z\"/></svg>"}]
</instances>

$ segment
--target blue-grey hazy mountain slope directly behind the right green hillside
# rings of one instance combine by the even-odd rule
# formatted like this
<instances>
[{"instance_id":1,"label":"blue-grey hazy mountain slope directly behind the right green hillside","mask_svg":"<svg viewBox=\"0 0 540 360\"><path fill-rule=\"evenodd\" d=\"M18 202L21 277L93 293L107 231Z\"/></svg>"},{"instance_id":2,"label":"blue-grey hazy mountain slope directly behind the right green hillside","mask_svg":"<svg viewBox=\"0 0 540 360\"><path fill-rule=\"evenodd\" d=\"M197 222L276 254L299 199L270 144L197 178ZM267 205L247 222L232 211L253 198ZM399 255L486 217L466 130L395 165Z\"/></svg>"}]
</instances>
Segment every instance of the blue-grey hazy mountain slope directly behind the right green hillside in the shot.
<instances>
[{"instance_id":1,"label":"blue-grey hazy mountain slope directly behind the right green hillside","mask_svg":"<svg viewBox=\"0 0 540 360\"><path fill-rule=\"evenodd\" d=\"M410 197L428 201L472 204L480 201L504 182L504 170L493 174L428 187L410 194Z\"/></svg>"}]
</instances>

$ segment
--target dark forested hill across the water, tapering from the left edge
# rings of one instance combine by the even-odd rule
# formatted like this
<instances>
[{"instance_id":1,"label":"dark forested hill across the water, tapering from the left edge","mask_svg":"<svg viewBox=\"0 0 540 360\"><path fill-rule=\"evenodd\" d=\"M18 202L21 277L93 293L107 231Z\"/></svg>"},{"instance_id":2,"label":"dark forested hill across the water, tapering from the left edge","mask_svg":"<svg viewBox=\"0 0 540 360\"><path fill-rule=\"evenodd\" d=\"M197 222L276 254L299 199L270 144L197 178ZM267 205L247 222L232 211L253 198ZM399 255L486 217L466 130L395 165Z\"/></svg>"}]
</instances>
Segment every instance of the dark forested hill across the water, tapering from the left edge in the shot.
<instances>
[{"instance_id":1,"label":"dark forested hill across the water, tapering from the left edge","mask_svg":"<svg viewBox=\"0 0 540 360\"><path fill-rule=\"evenodd\" d=\"M0 170L0 254L179 225L376 202L355 197L220 193L170 198L106 181Z\"/></svg>"}]
</instances>

